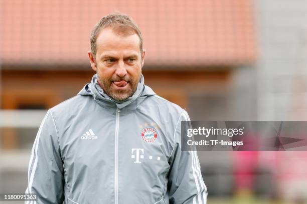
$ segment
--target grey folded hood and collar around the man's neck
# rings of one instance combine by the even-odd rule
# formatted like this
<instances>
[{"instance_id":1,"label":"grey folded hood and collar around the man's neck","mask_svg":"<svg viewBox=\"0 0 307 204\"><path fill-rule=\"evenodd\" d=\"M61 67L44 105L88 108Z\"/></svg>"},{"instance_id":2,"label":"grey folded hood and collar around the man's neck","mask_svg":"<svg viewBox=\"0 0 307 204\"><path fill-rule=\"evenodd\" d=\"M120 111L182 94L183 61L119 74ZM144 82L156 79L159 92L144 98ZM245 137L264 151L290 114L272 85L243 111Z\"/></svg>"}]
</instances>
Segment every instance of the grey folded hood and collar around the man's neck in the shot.
<instances>
[{"instance_id":1,"label":"grey folded hood and collar around the man's neck","mask_svg":"<svg viewBox=\"0 0 307 204\"><path fill-rule=\"evenodd\" d=\"M125 106L143 101L147 96L156 95L156 93L147 85L144 84L144 76L141 74L136 91L125 100L118 101L108 96L100 87L97 81L97 73L93 75L90 83L85 84L78 95L92 95L96 102L103 107L118 107L123 108Z\"/></svg>"}]
</instances>

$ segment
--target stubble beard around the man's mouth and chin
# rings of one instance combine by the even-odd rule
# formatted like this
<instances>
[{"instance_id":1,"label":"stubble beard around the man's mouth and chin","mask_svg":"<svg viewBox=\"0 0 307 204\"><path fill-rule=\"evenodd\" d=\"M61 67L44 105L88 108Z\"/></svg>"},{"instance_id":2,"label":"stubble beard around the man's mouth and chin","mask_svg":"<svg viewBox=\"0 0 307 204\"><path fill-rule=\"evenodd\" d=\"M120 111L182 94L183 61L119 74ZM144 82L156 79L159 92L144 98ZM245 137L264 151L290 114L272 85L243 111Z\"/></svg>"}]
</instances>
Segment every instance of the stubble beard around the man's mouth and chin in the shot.
<instances>
[{"instance_id":1,"label":"stubble beard around the man's mouth and chin","mask_svg":"<svg viewBox=\"0 0 307 204\"><path fill-rule=\"evenodd\" d=\"M99 74L97 72L98 76L98 83L100 87L103 89L103 91L113 98L114 100L122 101L133 95L133 93L136 91L137 84L139 81L139 78L133 79L133 78L128 78L128 77L116 77L116 78L110 78L110 79L101 79L99 77ZM118 80L125 80L128 81L129 83L127 84L126 89L115 89L114 84L112 84L112 81L118 81Z\"/></svg>"}]
</instances>

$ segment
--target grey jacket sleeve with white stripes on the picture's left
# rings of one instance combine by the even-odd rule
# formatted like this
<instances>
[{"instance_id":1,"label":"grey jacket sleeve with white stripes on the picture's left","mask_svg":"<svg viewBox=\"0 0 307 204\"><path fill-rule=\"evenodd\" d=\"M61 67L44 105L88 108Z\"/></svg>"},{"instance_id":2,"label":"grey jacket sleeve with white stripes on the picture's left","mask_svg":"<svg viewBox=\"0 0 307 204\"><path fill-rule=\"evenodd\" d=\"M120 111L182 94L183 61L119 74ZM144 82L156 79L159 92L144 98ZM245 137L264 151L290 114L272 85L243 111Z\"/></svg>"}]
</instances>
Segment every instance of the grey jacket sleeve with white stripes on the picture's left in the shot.
<instances>
[{"instance_id":1,"label":"grey jacket sleeve with white stripes on the picture's left","mask_svg":"<svg viewBox=\"0 0 307 204\"><path fill-rule=\"evenodd\" d=\"M36 135L28 170L26 193L35 193L38 200L25 203L63 203L63 174L57 128L48 110Z\"/></svg>"}]
</instances>

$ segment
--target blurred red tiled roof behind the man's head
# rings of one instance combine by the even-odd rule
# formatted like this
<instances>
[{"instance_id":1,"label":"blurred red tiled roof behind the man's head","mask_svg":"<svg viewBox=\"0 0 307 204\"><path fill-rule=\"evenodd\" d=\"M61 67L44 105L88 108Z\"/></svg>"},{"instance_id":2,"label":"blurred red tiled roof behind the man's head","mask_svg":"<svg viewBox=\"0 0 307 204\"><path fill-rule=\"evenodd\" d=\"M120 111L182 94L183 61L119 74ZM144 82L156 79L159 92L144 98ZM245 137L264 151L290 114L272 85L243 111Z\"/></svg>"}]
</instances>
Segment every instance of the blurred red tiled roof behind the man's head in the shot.
<instances>
[{"instance_id":1,"label":"blurred red tiled roof behind the man's head","mask_svg":"<svg viewBox=\"0 0 307 204\"><path fill-rule=\"evenodd\" d=\"M146 64L244 64L255 59L251 0L3 0L4 64L88 64L89 35L118 10L138 23Z\"/></svg>"}]
</instances>

